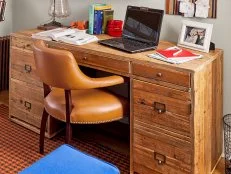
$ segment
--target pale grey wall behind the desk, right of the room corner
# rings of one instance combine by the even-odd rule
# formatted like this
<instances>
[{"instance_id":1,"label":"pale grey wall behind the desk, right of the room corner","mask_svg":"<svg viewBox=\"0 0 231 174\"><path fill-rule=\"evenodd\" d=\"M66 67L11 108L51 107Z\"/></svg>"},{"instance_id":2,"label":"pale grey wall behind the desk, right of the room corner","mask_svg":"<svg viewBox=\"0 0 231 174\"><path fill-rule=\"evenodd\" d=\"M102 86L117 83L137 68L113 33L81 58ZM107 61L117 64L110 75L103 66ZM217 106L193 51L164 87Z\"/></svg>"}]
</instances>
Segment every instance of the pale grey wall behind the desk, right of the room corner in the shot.
<instances>
[{"instance_id":1,"label":"pale grey wall behind the desk, right of the room corner","mask_svg":"<svg viewBox=\"0 0 231 174\"><path fill-rule=\"evenodd\" d=\"M71 20L87 19L88 4L93 2L105 2L112 4L115 10L115 18L124 19L126 6L137 5L151 8L165 8L165 0L69 0L72 9L72 15L64 20L68 24ZM13 31L34 28L38 24L46 23L49 20L48 0L17 0L13 3ZM231 80L229 67L231 67L231 1L218 0L218 17L217 19L194 19L201 22L213 23L212 41L216 47L224 49L224 114L231 113ZM181 27L181 16L165 15L161 39L177 42L178 34Z\"/></svg>"}]
</instances>

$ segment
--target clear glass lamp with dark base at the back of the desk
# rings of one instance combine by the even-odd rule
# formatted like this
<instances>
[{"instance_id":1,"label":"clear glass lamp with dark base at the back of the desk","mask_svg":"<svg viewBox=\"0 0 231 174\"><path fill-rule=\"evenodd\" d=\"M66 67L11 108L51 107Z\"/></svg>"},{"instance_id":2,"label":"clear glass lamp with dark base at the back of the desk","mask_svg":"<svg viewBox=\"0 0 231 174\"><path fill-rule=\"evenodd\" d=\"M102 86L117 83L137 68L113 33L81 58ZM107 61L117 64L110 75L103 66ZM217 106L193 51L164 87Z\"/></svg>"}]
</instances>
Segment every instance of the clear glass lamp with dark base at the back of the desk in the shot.
<instances>
[{"instance_id":1,"label":"clear glass lamp with dark base at the back of the desk","mask_svg":"<svg viewBox=\"0 0 231 174\"><path fill-rule=\"evenodd\" d=\"M39 29L53 29L61 27L62 24L57 22L56 18L66 18L70 16L71 11L68 0L50 0L50 7L48 11L49 16L52 17L52 21L48 24L40 25Z\"/></svg>"}]
</instances>

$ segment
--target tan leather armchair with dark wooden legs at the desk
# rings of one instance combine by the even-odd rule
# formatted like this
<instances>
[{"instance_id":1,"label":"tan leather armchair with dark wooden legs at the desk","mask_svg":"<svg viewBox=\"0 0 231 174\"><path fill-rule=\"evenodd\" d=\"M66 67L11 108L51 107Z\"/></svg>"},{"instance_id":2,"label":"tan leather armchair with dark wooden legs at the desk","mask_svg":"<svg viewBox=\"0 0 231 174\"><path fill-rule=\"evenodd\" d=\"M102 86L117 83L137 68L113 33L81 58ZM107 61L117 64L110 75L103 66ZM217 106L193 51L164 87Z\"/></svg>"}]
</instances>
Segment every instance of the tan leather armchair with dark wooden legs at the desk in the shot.
<instances>
[{"instance_id":1,"label":"tan leather armchair with dark wooden legs at the desk","mask_svg":"<svg viewBox=\"0 0 231 174\"><path fill-rule=\"evenodd\" d=\"M90 78L79 69L71 52L48 48L41 40L35 41L33 51L37 75L44 84L40 153L44 152L48 115L66 122L66 143L71 139L71 123L99 124L123 118L127 101L96 89L124 83L123 77Z\"/></svg>"}]
</instances>

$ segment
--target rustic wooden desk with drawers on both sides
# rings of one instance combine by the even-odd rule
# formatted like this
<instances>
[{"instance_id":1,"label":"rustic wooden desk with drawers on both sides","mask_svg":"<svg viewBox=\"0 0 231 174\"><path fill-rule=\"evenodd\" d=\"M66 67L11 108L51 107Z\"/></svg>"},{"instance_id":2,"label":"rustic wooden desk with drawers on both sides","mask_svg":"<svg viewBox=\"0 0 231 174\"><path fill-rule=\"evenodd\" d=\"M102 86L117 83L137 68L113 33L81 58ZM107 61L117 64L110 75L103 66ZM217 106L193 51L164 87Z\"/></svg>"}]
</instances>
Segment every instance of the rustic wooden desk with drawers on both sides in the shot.
<instances>
[{"instance_id":1,"label":"rustic wooden desk with drawers on both sides","mask_svg":"<svg viewBox=\"0 0 231 174\"><path fill-rule=\"evenodd\" d=\"M38 132L43 89L31 51L34 32L11 35L10 119ZM153 51L127 54L97 43L47 43L71 51L80 65L130 79L131 173L212 173L222 153L222 50L173 65L148 58ZM161 41L159 49L170 46ZM49 119L47 136L57 127Z\"/></svg>"}]
</instances>

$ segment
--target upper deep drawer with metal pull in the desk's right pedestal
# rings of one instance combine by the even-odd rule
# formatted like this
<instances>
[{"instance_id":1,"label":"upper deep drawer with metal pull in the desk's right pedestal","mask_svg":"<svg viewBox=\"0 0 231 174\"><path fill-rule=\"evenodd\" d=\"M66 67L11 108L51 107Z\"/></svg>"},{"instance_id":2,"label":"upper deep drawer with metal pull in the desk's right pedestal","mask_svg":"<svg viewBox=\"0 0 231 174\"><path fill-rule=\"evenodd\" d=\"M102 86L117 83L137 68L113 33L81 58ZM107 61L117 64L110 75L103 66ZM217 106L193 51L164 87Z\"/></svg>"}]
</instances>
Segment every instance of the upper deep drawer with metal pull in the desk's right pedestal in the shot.
<instances>
[{"instance_id":1,"label":"upper deep drawer with metal pull in the desk's right pedestal","mask_svg":"<svg viewBox=\"0 0 231 174\"><path fill-rule=\"evenodd\" d=\"M190 137L190 93L133 80L135 121Z\"/></svg>"}]
</instances>

